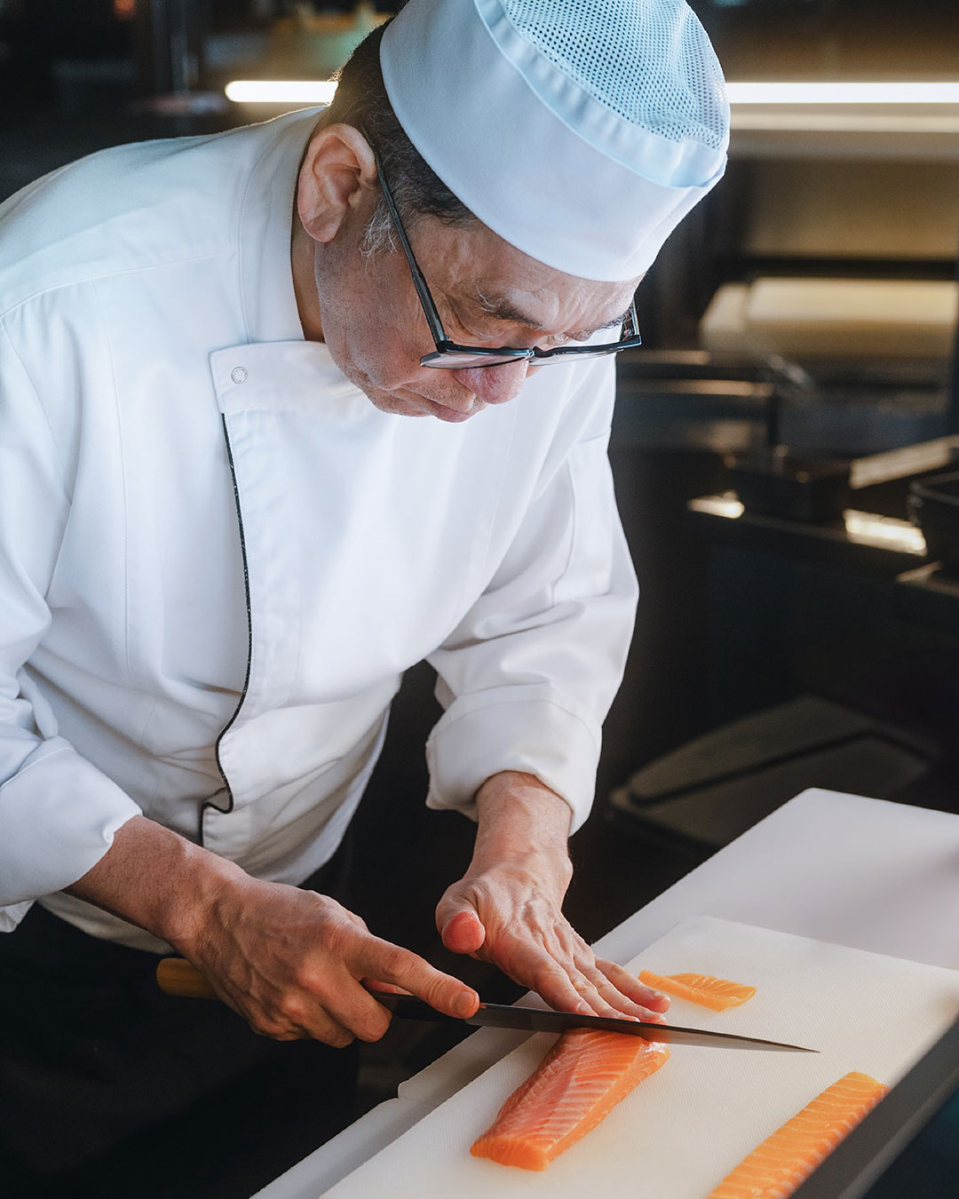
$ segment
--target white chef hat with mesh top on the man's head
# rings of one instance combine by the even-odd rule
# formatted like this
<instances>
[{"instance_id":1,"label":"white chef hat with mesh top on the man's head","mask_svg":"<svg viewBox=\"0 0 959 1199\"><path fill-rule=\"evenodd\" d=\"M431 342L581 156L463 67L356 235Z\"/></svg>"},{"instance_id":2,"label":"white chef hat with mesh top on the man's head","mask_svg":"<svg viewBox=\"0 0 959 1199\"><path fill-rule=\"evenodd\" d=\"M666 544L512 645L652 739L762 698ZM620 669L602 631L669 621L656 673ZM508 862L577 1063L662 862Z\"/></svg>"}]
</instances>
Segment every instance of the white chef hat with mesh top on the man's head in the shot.
<instances>
[{"instance_id":1,"label":"white chef hat with mesh top on the man's head","mask_svg":"<svg viewBox=\"0 0 959 1199\"><path fill-rule=\"evenodd\" d=\"M568 275L641 275L725 169L723 72L684 0L410 0L380 62L442 182Z\"/></svg>"}]
</instances>

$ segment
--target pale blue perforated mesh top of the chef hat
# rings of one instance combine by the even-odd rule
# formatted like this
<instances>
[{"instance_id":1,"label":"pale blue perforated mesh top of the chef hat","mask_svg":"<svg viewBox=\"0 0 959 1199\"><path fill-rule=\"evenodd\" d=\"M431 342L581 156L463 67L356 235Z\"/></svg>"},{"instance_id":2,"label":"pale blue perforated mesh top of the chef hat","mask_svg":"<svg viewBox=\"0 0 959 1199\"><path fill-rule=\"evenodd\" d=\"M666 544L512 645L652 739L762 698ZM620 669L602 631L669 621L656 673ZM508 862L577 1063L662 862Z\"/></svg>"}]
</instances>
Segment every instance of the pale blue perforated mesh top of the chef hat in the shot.
<instances>
[{"instance_id":1,"label":"pale blue perforated mesh top of the chef hat","mask_svg":"<svg viewBox=\"0 0 959 1199\"><path fill-rule=\"evenodd\" d=\"M633 125L722 150L725 88L696 20L676 4L501 0L517 30L595 100ZM692 16L692 14L690 14ZM589 29L590 37L583 37Z\"/></svg>"}]
</instances>

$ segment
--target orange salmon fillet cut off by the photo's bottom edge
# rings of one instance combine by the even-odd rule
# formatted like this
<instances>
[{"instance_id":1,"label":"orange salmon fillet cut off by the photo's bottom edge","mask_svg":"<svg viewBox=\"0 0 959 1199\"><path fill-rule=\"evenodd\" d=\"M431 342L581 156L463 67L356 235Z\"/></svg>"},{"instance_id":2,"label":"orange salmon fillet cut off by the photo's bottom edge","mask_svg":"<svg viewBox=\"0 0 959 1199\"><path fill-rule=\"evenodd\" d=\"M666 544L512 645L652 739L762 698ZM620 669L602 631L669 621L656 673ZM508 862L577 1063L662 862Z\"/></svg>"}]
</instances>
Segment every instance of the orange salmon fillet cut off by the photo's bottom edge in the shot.
<instances>
[{"instance_id":1,"label":"orange salmon fillet cut off by the photo's bottom edge","mask_svg":"<svg viewBox=\"0 0 959 1199\"><path fill-rule=\"evenodd\" d=\"M887 1091L868 1074L845 1074L744 1157L707 1199L786 1199Z\"/></svg>"}]
</instances>

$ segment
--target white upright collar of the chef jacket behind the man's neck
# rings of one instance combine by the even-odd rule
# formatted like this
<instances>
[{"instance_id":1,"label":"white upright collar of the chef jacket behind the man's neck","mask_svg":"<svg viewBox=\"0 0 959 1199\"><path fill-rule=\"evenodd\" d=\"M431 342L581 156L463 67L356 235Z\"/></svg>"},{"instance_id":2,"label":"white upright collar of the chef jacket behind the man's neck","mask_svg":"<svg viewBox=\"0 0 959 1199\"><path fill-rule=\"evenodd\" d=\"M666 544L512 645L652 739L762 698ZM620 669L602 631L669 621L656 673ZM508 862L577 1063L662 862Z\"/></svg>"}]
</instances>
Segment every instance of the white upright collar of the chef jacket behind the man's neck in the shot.
<instances>
[{"instance_id":1,"label":"white upright collar of the chef jacket behind the man's neck","mask_svg":"<svg viewBox=\"0 0 959 1199\"><path fill-rule=\"evenodd\" d=\"M261 126L265 149L249 176L237 230L241 302L251 342L303 339L290 234L300 162L320 112L288 113Z\"/></svg>"}]
</instances>

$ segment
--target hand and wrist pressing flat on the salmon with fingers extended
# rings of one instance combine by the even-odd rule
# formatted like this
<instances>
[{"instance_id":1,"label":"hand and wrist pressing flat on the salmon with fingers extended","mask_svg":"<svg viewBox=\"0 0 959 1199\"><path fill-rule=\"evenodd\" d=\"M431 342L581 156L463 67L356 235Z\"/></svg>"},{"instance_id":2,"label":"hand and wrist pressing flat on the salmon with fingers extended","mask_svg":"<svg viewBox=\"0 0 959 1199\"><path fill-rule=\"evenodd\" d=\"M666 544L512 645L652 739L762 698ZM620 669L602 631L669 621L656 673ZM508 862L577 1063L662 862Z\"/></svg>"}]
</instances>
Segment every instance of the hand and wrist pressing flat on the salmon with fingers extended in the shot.
<instances>
[{"instance_id":1,"label":"hand and wrist pressing flat on the salmon with fingers extended","mask_svg":"<svg viewBox=\"0 0 959 1199\"><path fill-rule=\"evenodd\" d=\"M436 908L444 945L494 963L551 1007L659 1019L669 999L596 958L562 914L572 876L567 805L513 772L488 779L477 803L470 868Z\"/></svg>"}]
</instances>

